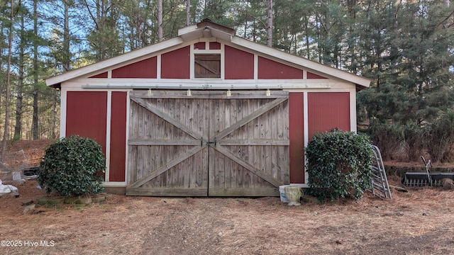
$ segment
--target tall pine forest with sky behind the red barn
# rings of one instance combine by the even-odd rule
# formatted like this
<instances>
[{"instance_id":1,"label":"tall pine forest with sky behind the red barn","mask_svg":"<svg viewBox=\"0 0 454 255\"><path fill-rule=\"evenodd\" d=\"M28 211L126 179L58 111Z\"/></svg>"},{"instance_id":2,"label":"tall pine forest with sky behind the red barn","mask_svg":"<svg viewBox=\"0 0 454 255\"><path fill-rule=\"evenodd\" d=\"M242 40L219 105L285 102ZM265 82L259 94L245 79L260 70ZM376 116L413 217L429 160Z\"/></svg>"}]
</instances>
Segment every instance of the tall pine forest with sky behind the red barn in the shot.
<instances>
[{"instance_id":1,"label":"tall pine forest with sky behind the red barn","mask_svg":"<svg viewBox=\"0 0 454 255\"><path fill-rule=\"evenodd\" d=\"M357 95L358 130L385 160L454 160L449 0L0 0L3 140L59 136L60 95L45 86L48 77L175 37L204 18L371 79Z\"/></svg>"}]
</instances>

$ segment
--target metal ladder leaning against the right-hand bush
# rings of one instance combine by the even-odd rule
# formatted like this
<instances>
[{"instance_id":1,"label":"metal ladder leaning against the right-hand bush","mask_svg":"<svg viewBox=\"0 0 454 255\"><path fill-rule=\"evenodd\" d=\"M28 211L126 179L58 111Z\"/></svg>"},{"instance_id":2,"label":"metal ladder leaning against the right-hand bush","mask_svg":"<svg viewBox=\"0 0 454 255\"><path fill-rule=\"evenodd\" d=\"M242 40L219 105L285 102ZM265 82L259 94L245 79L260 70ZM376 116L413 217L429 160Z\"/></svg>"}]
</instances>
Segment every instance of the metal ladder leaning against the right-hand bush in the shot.
<instances>
[{"instance_id":1,"label":"metal ladder leaning against the right-hand bush","mask_svg":"<svg viewBox=\"0 0 454 255\"><path fill-rule=\"evenodd\" d=\"M380 198L392 198L389 183L384 171L380 149L372 145L372 194Z\"/></svg>"}]
</instances>

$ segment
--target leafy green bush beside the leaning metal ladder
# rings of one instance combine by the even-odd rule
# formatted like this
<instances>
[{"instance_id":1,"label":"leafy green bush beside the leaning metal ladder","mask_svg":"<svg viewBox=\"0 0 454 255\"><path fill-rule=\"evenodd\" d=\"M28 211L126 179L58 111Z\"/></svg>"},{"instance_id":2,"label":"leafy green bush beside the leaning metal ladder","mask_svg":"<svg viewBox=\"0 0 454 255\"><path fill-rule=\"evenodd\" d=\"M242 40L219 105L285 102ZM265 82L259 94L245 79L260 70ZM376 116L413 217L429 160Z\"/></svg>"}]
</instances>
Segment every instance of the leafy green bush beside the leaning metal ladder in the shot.
<instances>
[{"instance_id":1,"label":"leafy green bush beside the leaning metal ladder","mask_svg":"<svg viewBox=\"0 0 454 255\"><path fill-rule=\"evenodd\" d=\"M358 199L371 188L372 147L367 135L318 133L305 152L309 194L319 200Z\"/></svg>"}]
</instances>

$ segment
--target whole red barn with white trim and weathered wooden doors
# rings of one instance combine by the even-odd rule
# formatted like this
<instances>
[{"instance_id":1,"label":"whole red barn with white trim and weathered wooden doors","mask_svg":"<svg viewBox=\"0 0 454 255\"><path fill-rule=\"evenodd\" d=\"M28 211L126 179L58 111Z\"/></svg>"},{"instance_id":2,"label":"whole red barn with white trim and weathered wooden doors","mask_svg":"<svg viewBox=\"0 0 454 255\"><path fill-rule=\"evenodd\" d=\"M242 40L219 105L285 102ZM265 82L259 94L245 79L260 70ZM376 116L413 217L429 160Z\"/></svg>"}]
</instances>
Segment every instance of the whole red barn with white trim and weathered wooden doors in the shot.
<instances>
[{"instance_id":1,"label":"whole red barn with white trim and weathered wooden doors","mask_svg":"<svg viewBox=\"0 0 454 255\"><path fill-rule=\"evenodd\" d=\"M96 140L106 188L143 196L304 186L304 146L314 132L356 131L356 91L370 84L211 21L46 82L61 89L60 136Z\"/></svg>"}]
</instances>

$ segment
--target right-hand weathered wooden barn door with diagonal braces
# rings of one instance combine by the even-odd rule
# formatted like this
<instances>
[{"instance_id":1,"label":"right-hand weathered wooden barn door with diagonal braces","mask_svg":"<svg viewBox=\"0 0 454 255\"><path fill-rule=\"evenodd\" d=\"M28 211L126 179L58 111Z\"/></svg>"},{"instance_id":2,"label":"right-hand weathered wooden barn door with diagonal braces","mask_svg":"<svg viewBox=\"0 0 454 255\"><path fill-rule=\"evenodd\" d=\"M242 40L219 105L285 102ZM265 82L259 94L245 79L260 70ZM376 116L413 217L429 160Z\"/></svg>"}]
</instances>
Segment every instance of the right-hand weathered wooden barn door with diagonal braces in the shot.
<instances>
[{"instance_id":1,"label":"right-hand weathered wooden barn door with diagonal braces","mask_svg":"<svg viewBox=\"0 0 454 255\"><path fill-rule=\"evenodd\" d=\"M209 110L209 196L277 196L289 183L288 93L232 92Z\"/></svg>"}]
</instances>

